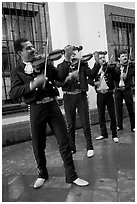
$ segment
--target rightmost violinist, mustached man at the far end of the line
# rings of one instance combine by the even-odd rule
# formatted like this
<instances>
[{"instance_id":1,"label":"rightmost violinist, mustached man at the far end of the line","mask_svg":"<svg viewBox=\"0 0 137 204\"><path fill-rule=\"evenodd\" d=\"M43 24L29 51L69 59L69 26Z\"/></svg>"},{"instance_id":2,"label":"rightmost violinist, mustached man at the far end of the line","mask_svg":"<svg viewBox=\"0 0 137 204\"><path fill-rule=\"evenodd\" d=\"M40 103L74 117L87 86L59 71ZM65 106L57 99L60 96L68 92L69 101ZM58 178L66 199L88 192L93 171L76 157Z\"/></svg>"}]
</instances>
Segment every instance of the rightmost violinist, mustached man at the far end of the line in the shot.
<instances>
[{"instance_id":1,"label":"rightmost violinist, mustached man at the far end of the line","mask_svg":"<svg viewBox=\"0 0 137 204\"><path fill-rule=\"evenodd\" d=\"M117 130L123 129L123 99L128 110L131 131L135 132L135 113L133 105L133 77L135 76L135 64L128 61L126 50L120 50L118 53L119 63L116 66L119 81L115 83L115 105L117 116Z\"/></svg>"}]
</instances>

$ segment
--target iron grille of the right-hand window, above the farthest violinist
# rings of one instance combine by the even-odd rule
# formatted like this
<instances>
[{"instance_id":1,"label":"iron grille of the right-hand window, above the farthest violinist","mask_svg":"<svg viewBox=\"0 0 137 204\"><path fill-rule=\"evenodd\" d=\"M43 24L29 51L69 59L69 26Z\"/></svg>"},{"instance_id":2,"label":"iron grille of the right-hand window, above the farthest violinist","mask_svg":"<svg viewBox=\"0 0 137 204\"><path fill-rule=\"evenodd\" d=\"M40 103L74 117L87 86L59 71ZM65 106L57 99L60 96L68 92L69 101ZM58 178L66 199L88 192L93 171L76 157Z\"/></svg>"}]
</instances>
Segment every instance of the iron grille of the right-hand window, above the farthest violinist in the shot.
<instances>
[{"instance_id":1,"label":"iron grille of the right-hand window, above the farthest violinist","mask_svg":"<svg viewBox=\"0 0 137 204\"><path fill-rule=\"evenodd\" d=\"M135 58L135 18L129 16L110 14L112 22L112 39L117 61L119 49L128 50L129 57Z\"/></svg>"}]
</instances>

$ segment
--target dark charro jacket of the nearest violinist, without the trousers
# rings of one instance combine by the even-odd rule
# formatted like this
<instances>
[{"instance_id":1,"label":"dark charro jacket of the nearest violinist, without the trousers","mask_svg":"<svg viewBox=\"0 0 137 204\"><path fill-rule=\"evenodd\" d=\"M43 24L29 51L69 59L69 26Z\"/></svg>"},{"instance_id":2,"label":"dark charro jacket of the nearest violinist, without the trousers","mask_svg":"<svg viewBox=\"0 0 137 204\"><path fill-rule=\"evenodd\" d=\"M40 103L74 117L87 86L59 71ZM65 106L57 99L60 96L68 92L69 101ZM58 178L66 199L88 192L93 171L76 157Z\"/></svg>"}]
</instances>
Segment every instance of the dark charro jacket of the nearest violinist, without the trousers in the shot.
<instances>
[{"instance_id":1,"label":"dark charro jacket of the nearest violinist, without the trousers","mask_svg":"<svg viewBox=\"0 0 137 204\"><path fill-rule=\"evenodd\" d=\"M40 72L33 71L31 74L27 74L24 71L25 64L19 61L17 67L12 70L11 98L23 98L26 104L32 104L42 100L44 97L58 96L59 92L54 80L63 82L69 73L70 64L63 61L61 67L62 69L57 70L57 68L48 61L46 74L48 81L45 84L45 88L41 86L38 89L30 90L30 82L33 81L38 74L44 72L44 64L41 66Z\"/></svg>"}]
</instances>

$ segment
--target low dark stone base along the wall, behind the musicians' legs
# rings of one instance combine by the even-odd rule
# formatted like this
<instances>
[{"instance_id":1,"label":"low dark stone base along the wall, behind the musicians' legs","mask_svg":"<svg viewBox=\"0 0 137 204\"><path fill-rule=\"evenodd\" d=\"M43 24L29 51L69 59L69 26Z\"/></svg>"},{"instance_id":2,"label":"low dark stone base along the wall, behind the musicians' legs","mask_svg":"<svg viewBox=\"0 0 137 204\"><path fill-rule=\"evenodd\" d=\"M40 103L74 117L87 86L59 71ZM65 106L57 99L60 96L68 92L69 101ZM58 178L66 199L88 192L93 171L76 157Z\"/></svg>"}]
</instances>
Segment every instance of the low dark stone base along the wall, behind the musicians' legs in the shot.
<instances>
[{"instance_id":1,"label":"low dark stone base along the wall, behind the musicians' legs","mask_svg":"<svg viewBox=\"0 0 137 204\"><path fill-rule=\"evenodd\" d=\"M98 121L97 109L92 109L89 111L89 113L91 118L91 125L98 124L99 121ZM27 114L28 112L26 112L26 115ZM66 120L64 113L63 113L63 116ZM123 117L127 117L127 116L128 116L128 113L124 106ZM106 111L106 121L109 121L109 120L110 118L109 118L108 112ZM76 129L80 129L80 128L82 128L82 125L77 114ZM47 125L46 136L51 136L51 135L53 135L53 132L50 129L50 127ZM29 140L31 140L29 120L2 125L2 146L14 145L16 143L25 142Z\"/></svg>"}]
</instances>

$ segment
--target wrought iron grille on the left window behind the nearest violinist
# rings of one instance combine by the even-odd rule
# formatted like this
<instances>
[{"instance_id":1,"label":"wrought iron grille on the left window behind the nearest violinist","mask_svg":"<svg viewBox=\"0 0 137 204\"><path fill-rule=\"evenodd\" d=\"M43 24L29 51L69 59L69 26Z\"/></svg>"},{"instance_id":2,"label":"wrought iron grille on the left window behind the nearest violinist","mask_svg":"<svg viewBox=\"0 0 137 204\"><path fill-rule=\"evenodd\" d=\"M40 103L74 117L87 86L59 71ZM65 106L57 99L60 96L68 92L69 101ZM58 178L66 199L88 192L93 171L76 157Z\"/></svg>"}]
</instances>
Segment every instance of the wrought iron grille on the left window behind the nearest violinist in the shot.
<instances>
[{"instance_id":1,"label":"wrought iron grille on the left window behind the nearest violinist","mask_svg":"<svg viewBox=\"0 0 137 204\"><path fill-rule=\"evenodd\" d=\"M43 53L48 32L47 3L2 3L2 100L10 99L10 74L17 63L14 41L20 37L30 40ZM51 45L49 46L50 49Z\"/></svg>"}]
</instances>

